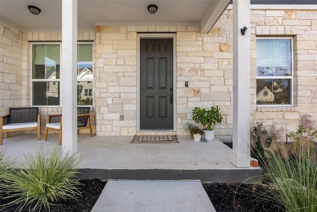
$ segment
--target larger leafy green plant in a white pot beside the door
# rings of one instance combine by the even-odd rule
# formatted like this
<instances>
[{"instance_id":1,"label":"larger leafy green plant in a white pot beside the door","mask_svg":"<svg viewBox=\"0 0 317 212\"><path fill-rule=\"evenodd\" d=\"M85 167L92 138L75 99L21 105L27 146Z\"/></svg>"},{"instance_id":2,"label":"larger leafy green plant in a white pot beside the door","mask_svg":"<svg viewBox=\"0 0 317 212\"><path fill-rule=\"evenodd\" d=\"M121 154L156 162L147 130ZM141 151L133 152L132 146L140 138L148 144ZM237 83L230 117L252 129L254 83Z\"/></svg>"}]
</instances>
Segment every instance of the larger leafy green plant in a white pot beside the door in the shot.
<instances>
[{"instance_id":1,"label":"larger leafy green plant in a white pot beside the door","mask_svg":"<svg viewBox=\"0 0 317 212\"><path fill-rule=\"evenodd\" d=\"M203 126L206 140L211 141L214 138L213 128L221 123L222 116L218 106L211 106L210 110L195 107L192 111L192 119Z\"/></svg>"}]
</instances>

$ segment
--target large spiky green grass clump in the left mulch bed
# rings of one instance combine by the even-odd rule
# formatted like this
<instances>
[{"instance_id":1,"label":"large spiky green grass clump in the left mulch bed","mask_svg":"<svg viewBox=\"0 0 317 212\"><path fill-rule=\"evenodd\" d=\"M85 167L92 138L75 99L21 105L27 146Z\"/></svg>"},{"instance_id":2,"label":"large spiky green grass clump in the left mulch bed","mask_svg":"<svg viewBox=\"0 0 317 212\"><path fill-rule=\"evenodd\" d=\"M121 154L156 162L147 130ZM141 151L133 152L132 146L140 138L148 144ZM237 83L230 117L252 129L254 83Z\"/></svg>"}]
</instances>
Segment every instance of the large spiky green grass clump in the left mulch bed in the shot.
<instances>
[{"instance_id":1,"label":"large spiky green grass clump in the left mulch bed","mask_svg":"<svg viewBox=\"0 0 317 212\"><path fill-rule=\"evenodd\" d=\"M17 205L16 211L25 208L31 212L42 208L50 210L50 205L57 200L80 195L76 154L62 156L60 149L46 152L40 148L35 155L24 156L25 164L21 164L20 169L3 173L5 198L13 198L8 205Z\"/></svg>"}]
</instances>

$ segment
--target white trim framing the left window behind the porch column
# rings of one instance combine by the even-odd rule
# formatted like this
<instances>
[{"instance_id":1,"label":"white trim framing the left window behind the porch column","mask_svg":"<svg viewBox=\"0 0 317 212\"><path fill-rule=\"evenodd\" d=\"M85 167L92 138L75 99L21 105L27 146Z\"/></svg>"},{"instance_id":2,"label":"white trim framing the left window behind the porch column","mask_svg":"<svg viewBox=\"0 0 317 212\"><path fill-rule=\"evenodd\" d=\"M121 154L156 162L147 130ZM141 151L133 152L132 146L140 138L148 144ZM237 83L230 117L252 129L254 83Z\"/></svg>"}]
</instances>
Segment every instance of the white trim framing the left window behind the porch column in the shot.
<instances>
[{"instance_id":1,"label":"white trim framing the left window behind the porch column","mask_svg":"<svg viewBox=\"0 0 317 212\"><path fill-rule=\"evenodd\" d=\"M31 42L30 43L30 106L31 107L43 107L43 108L59 108L59 107L62 107L62 83L61 83L61 80L60 78L58 79L33 79L32 78L32 71L33 71L33 54L32 54L32 51L33 51L33 48L32 48L32 45L34 44L59 44L59 57L60 57L60 61L61 61L61 41L60 42ZM95 72L95 68L94 68L94 42L80 42L78 41L77 44L92 44L92 47L93 47L93 75L94 75L94 72ZM61 75L61 71L62 71L62 64L59 65L59 75ZM93 99L95 99L95 93L94 93L94 79L95 77L93 76L93 78L91 80L89 79L77 79L77 82L78 81L91 81L92 82L92 96L93 96ZM60 93L59 93L59 105L33 105L33 82L43 82L43 81L47 81L47 82L50 82L50 81L58 81L59 82L59 90L60 90ZM94 106L94 101L93 101L93 104L92 105L78 105L78 107L93 107Z\"/></svg>"}]
</instances>

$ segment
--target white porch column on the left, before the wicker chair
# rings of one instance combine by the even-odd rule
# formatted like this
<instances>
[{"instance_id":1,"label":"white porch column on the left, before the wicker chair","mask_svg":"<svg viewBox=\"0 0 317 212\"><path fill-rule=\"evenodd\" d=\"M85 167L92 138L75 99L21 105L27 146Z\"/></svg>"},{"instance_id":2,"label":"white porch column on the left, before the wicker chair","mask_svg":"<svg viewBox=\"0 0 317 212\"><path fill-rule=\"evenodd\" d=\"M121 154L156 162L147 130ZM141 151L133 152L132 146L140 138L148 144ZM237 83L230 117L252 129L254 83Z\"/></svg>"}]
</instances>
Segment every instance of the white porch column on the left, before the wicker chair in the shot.
<instances>
[{"instance_id":1,"label":"white porch column on the left, before the wicker chair","mask_svg":"<svg viewBox=\"0 0 317 212\"><path fill-rule=\"evenodd\" d=\"M62 149L77 151L77 0L62 0Z\"/></svg>"}]
</instances>

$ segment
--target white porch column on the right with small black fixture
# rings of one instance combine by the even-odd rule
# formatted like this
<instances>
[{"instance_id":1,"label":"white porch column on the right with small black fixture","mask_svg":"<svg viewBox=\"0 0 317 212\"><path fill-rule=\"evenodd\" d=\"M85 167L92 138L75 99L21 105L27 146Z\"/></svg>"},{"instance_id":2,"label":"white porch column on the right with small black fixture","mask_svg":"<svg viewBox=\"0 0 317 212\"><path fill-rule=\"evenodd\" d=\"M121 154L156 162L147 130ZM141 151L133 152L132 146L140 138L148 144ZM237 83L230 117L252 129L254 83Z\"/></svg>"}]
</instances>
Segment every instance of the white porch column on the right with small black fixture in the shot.
<instances>
[{"instance_id":1,"label":"white porch column on the right with small black fixture","mask_svg":"<svg viewBox=\"0 0 317 212\"><path fill-rule=\"evenodd\" d=\"M245 35L242 28L247 27ZM233 0L233 143L230 161L250 167L250 0Z\"/></svg>"}]
</instances>

